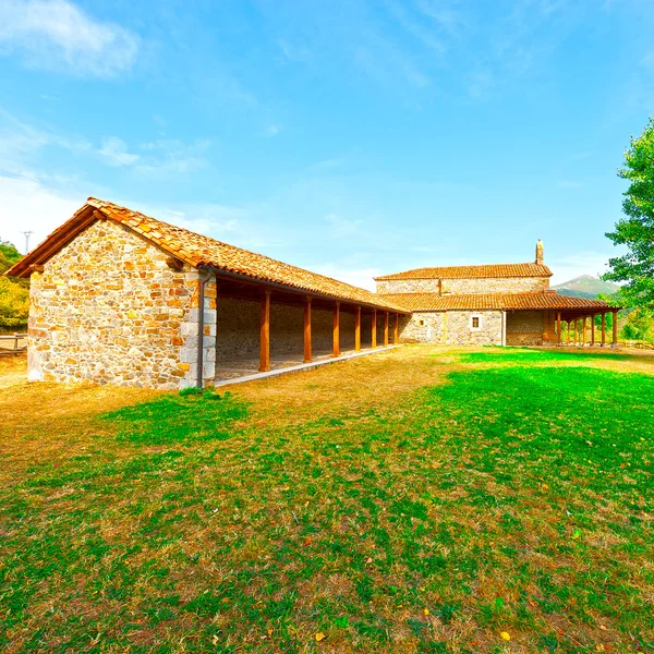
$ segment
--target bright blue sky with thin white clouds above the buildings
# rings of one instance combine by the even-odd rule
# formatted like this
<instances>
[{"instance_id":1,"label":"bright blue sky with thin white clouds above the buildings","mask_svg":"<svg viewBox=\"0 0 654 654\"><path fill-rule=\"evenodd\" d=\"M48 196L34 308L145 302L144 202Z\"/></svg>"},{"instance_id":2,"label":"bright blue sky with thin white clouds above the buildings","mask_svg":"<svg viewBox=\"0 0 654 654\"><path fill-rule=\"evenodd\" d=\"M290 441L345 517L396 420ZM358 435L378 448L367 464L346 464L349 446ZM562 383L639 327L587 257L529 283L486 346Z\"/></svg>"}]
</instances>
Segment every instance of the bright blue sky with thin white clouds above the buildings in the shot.
<instances>
[{"instance_id":1,"label":"bright blue sky with thin white clouds above the buildings","mask_svg":"<svg viewBox=\"0 0 654 654\"><path fill-rule=\"evenodd\" d=\"M651 0L0 0L0 239L87 196L371 286L616 252Z\"/></svg>"}]
</instances>

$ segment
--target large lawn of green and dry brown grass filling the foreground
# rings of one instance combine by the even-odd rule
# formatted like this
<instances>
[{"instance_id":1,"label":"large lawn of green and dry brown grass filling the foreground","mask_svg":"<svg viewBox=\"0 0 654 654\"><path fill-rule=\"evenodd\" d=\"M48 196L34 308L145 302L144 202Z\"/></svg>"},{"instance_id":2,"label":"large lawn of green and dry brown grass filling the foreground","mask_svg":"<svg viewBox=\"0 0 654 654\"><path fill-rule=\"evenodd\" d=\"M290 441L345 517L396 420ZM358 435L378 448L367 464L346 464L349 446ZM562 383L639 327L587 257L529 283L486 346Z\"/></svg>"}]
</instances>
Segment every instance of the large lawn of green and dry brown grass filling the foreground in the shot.
<instances>
[{"instance_id":1,"label":"large lawn of green and dry brown grass filling the foreground","mask_svg":"<svg viewBox=\"0 0 654 654\"><path fill-rule=\"evenodd\" d=\"M0 650L654 652L653 377L403 350L447 376L388 405L89 417L0 488Z\"/></svg>"}]
</instances>

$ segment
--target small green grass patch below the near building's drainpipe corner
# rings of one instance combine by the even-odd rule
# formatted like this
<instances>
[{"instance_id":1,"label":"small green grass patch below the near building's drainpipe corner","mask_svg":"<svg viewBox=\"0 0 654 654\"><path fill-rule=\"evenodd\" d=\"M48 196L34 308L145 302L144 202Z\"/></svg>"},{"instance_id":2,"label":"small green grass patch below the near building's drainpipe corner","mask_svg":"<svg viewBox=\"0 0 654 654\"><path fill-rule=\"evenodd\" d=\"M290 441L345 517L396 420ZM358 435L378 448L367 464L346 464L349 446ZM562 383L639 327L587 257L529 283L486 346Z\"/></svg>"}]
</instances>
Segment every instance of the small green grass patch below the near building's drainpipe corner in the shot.
<instances>
[{"instance_id":1,"label":"small green grass patch below the near building's drainpipe corner","mask_svg":"<svg viewBox=\"0 0 654 654\"><path fill-rule=\"evenodd\" d=\"M231 393L166 395L101 415L118 427L118 439L142 445L226 440L233 423L247 415L247 404Z\"/></svg>"}]
</instances>

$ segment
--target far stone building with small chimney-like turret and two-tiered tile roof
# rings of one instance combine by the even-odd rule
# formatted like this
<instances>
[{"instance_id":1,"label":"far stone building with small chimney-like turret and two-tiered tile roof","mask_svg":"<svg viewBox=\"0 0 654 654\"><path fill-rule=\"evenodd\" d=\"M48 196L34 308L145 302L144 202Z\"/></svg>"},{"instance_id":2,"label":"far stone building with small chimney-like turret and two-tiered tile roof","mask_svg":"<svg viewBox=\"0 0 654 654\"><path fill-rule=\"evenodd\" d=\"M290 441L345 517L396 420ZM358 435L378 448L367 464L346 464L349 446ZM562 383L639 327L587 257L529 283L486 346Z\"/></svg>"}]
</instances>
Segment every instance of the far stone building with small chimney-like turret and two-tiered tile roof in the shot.
<instances>
[{"instance_id":1,"label":"far stone building with small chimney-like turret and two-tiered tile roof","mask_svg":"<svg viewBox=\"0 0 654 654\"><path fill-rule=\"evenodd\" d=\"M377 294L411 312L402 322L403 342L556 346L566 323L566 342L595 344L591 317L601 314L605 344L606 303L559 295L549 289L550 277L538 240L534 262L417 268L375 281Z\"/></svg>"}]
</instances>

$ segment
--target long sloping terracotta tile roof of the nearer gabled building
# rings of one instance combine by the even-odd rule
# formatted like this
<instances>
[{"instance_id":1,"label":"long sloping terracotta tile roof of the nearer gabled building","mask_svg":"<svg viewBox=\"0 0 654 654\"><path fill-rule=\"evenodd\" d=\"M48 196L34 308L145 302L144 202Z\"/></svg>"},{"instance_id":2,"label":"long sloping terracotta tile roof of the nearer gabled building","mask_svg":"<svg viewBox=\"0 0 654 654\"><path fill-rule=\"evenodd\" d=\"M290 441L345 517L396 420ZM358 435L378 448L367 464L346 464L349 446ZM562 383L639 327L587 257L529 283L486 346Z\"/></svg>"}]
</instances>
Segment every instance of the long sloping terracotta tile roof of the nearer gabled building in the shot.
<instances>
[{"instance_id":1,"label":"long sloping terracotta tile roof of the nearer gabled building","mask_svg":"<svg viewBox=\"0 0 654 654\"><path fill-rule=\"evenodd\" d=\"M222 243L209 237L203 237L187 229L162 222L138 211L95 197L89 197L86 205L76 211L70 220L57 228L8 272L15 277L27 277L32 265L44 264L52 254L98 218L110 218L125 225L191 266L209 266L227 272L237 272L255 280L275 282L290 289L327 295L342 301L391 311L404 311L402 306L393 304L388 298L377 295L365 289L278 262L263 254Z\"/></svg>"}]
</instances>

